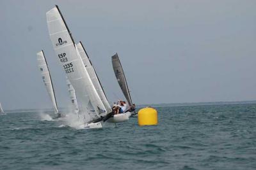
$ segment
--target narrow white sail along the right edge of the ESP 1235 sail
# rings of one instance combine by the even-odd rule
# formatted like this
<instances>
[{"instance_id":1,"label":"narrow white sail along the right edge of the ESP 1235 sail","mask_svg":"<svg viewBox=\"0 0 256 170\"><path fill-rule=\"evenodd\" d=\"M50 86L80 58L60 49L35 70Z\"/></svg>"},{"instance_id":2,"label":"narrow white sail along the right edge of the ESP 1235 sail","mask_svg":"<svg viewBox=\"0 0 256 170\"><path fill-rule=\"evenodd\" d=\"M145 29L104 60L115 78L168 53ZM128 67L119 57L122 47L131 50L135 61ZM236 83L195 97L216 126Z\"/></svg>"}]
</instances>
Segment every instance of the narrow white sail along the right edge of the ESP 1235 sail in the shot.
<instances>
[{"instance_id":1,"label":"narrow white sail along the right edge of the ESP 1235 sail","mask_svg":"<svg viewBox=\"0 0 256 170\"><path fill-rule=\"evenodd\" d=\"M97 73L95 72L95 69L92 66L92 62L89 59L89 57L86 53L86 50L84 49L83 44L80 41L79 43L77 43L76 46L77 46L78 52L83 60L84 66L86 67L86 70L92 80L92 83L93 83L95 89L97 90L97 93L99 94L99 97L100 97L102 103L104 104L108 113L110 113L112 111L111 106L108 103L108 99L106 97L106 94L104 93L104 90L102 89L102 85L99 81L99 77L97 76Z\"/></svg>"}]
</instances>

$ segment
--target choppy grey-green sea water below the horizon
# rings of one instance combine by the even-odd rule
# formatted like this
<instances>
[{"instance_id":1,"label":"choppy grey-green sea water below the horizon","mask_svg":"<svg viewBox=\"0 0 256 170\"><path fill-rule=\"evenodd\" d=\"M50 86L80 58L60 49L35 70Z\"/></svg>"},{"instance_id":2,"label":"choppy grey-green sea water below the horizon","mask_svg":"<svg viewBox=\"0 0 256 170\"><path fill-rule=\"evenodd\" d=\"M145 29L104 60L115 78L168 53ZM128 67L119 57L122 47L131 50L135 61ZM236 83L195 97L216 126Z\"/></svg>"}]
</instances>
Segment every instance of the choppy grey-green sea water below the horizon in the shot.
<instances>
[{"instance_id":1,"label":"choppy grey-green sea water below the horizon","mask_svg":"<svg viewBox=\"0 0 256 170\"><path fill-rule=\"evenodd\" d=\"M0 169L256 169L256 104L156 109L156 126L89 130L51 112L0 115Z\"/></svg>"}]
</instances>

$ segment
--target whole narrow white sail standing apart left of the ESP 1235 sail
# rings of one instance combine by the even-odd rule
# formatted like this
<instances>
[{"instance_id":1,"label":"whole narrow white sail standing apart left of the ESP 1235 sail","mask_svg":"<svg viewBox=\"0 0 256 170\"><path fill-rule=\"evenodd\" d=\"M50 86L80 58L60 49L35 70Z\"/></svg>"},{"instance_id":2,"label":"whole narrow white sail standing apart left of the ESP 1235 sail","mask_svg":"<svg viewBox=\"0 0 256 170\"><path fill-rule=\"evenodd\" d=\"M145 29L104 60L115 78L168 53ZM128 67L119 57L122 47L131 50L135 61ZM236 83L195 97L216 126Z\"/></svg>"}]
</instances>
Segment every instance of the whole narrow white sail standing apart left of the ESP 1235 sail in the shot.
<instances>
[{"instance_id":1,"label":"whole narrow white sail standing apart left of the ESP 1235 sail","mask_svg":"<svg viewBox=\"0 0 256 170\"><path fill-rule=\"evenodd\" d=\"M47 92L51 98L51 101L52 101L54 113L57 114L57 113L59 113L58 106L56 103L54 89L52 86L51 74L49 72L47 62L45 60L44 51L42 50L42 51L36 53L36 58L37 58L37 62L38 62L38 67L39 67L41 75L42 75L42 79L44 81L44 85L45 85L46 90L47 90Z\"/></svg>"}]
</instances>

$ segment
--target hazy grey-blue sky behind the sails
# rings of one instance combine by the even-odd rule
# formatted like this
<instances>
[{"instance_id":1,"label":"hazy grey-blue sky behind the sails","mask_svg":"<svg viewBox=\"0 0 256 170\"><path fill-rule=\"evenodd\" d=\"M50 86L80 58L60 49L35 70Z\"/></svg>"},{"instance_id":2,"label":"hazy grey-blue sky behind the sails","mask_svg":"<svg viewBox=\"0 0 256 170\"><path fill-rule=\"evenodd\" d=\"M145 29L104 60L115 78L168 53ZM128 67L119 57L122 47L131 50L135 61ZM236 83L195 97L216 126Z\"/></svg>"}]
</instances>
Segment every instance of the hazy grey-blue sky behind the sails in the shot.
<instances>
[{"instance_id":1,"label":"hazy grey-blue sky behind the sails","mask_svg":"<svg viewBox=\"0 0 256 170\"><path fill-rule=\"evenodd\" d=\"M51 108L37 67L44 50L58 105L70 105L45 13L58 4L109 102L124 99L118 53L136 104L256 99L256 1L0 1L0 102Z\"/></svg>"}]
</instances>

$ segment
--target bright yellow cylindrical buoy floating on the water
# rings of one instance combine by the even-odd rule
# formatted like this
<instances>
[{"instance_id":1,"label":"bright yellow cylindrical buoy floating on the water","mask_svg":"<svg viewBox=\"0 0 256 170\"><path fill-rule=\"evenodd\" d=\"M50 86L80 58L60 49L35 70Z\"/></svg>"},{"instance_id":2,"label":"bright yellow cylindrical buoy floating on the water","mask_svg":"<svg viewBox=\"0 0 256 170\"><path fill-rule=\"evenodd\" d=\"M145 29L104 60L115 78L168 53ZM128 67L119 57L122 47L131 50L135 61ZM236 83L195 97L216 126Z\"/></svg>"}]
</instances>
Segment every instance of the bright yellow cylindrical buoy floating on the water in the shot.
<instances>
[{"instance_id":1,"label":"bright yellow cylindrical buoy floating on the water","mask_svg":"<svg viewBox=\"0 0 256 170\"><path fill-rule=\"evenodd\" d=\"M157 125L157 111L154 108L143 108L138 112L139 125Z\"/></svg>"}]
</instances>

